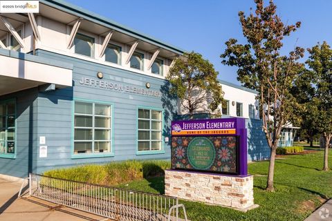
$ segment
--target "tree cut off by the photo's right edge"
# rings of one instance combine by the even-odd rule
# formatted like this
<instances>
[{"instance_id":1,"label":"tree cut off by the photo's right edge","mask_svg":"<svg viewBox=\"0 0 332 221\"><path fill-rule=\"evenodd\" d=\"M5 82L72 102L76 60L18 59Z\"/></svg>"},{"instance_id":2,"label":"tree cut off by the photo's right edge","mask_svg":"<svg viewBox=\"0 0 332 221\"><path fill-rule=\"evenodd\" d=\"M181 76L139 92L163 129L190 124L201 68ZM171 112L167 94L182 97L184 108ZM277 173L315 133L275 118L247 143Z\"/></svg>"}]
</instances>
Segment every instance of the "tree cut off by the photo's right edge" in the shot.
<instances>
[{"instance_id":1,"label":"tree cut off by the photo's right edge","mask_svg":"<svg viewBox=\"0 0 332 221\"><path fill-rule=\"evenodd\" d=\"M313 77L315 95L311 104L317 106L317 117L312 119L324 139L324 171L329 170L329 144L332 137L332 49L325 41L308 48L306 61ZM309 108L312 108L310 106Z\"/></svg>"}]
</instances>

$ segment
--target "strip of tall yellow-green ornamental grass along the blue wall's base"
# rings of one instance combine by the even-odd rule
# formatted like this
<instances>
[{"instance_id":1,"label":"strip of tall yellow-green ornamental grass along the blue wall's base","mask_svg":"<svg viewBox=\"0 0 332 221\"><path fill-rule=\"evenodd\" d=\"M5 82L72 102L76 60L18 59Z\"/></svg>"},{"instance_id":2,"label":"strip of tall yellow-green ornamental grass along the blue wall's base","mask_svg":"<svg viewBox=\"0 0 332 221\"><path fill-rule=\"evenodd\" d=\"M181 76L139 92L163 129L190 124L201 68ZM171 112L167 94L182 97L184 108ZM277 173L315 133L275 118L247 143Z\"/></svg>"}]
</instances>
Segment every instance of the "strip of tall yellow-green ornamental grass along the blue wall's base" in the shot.
<instances>
[{"instance_id":1,"label":"strip of tall yellow-green ornamental grass along the blue wall's base","mask_svg":"<svg viewBox=\"0 0 332 221\"><path fill-rule=\"evenodd\" d=\"M165 160L127 160L109 164L86 164L63 169L46 171L44 175L66 180L89 182L93 184L117 185L143 177L164 175L170 168L170 162Z\"/></svg>"}]
</instances>

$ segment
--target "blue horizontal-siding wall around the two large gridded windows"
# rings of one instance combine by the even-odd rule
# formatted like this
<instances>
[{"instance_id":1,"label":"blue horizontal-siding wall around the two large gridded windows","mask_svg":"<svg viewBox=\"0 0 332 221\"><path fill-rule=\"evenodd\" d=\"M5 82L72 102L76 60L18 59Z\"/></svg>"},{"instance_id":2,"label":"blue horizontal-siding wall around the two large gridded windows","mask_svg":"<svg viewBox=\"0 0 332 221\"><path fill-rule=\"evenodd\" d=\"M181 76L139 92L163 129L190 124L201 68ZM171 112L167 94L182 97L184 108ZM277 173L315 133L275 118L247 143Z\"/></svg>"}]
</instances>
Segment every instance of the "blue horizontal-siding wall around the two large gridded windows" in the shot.
<instances>
[{"instance_id":1,"label":"blue horizontal-siding wall around the two large gridded windows","mask_svg":"<svg viewBox=\"0 0 332 221\"><path fill-rule=\"evenodd\" d=\"M39 93L38 97L38 133L37 137L45 136L48 146L48 157L38 158L37 172L43 173L48 169L60 166L75 166L86 163L107 163L118 160L145 160L169 159L170 146L163 142L165 153L156 155L136 155L137 148L137 108L147 106L160 108L165 111L164 124L172 121L176 114L176 100L165 97L151 97L134 93L119 92L99 86L86 86L80 84L82 77L98 79L96 74L102 72L104 81L114 84L137 86L145 88L147 82L151 90L160 90L167 81L132 73L118 68L103 66L89 61L66 57L43 50L38 50L37 55L66 63L73 64L73 88L57 89L46 93ZM113 104L113 148L114 157L95 157L71 159L72 151L72 107L73 99L87 99L95 102L109 102ZM170 107L170 108L168 108ZM169 128L165 126L164 136L169 136ZM38 151L38 150L37 150Z\"/></svg>"}]
</instances>

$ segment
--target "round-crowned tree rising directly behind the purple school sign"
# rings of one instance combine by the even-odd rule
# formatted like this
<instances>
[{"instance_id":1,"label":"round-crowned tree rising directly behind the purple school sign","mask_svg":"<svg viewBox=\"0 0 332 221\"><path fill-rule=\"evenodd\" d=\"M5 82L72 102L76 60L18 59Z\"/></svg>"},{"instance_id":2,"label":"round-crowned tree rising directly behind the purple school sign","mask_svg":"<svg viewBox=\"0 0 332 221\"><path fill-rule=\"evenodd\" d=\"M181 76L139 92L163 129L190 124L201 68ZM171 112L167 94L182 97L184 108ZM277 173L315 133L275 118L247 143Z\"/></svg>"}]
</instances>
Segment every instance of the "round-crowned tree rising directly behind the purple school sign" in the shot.
<instances>
[{"instance_id":1,"label":"round-crowned tree rising directly behind the purple school sign","mask_svg":"<svg viewBox=\"0 0 332 221\"><path fill-rule=\"evenodd\" d=\"M210 61L196 52L185 53L177 58L169 69L167 79L171 93L178 96L181 106L193 116L194 111L213 113L223 101L218 73Z\"/></svg>"}]
</instances>

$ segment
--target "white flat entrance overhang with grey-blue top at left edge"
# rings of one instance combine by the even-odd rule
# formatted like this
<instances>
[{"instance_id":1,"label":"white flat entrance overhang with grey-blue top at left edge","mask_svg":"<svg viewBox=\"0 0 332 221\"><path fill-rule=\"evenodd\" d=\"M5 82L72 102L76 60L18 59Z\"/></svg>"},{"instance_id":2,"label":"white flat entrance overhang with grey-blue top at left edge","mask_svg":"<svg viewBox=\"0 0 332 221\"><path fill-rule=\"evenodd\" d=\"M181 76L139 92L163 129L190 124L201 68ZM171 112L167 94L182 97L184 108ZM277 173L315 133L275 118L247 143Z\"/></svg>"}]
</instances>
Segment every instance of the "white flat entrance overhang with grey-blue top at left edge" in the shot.
<instances>
[{"instance_id":1,"label":"white flat entrance overhang with grey-blue top at left edge","mask_svg":"<svg viewBox=\"0 0 332 221\"><path fill-rule=\"evenodd\" d=\"M35 55L0 50L0 95L54 84L55 88L72 86L73 66Z\"/></svg>"}]
</instances>

